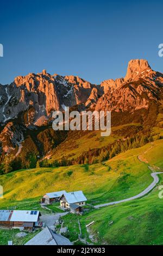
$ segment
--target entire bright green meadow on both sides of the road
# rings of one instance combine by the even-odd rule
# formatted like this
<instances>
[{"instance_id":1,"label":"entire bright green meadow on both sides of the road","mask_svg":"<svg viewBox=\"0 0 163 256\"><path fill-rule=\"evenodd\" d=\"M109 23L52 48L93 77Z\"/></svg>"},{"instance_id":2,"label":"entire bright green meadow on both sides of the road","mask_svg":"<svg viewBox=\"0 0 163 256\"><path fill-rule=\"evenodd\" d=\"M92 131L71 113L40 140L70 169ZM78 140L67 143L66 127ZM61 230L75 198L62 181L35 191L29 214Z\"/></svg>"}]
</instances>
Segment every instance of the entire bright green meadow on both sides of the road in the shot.
<instances>
[{"instance_id":1,"label":"entire bright green meadow on both sides of the road","mask_svg":"<svg viewBox=\"0 0 163 256\"><path fill-rule=\"evenodd\" d=\"M16 205L16 209L37 209L47 213L47 210L41 209L39 200L46 192L57 190L83 190L91 204L134 196L153 181L148 165L163 170L162 142L160 139L91 166L37 168L2 175L0 184L4 187L4 199L0 200L0 209L11 209ZM138 155L146 161L140 162ZM161 184L163 177L159 185ZM161 245L163 199L158 197L159 185L141 199L92 210L83 216L67 215L64 217L65 224L70 232L73 230L79 233L79 218L82 237L90 242L85 225L95 221L90 227L95 244ZM56 205L50 208L56 212L59 210ZM0 240L2 239L3 244L13 235L15 237L15 230L7 230L5 235L3 231L0 230ZM71 241L76 239L76 236L72 234ZM15 243L21 244L23 241L20 239Z\"/></svg>"}]
</instances>

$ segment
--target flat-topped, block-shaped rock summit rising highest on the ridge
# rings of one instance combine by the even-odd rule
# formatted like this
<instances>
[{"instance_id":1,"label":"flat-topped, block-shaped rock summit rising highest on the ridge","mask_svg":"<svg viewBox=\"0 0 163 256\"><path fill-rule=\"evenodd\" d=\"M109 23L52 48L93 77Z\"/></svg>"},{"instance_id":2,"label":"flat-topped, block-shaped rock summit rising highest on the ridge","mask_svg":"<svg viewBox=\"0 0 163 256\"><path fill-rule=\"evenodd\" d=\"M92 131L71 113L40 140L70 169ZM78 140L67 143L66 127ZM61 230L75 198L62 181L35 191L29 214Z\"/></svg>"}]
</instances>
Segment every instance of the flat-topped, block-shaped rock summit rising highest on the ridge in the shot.
<instances>
[{"instance_id":1,"label":"flat-topped, block-shaped rock summit rising highest on the ridge","mask_svg":"<svg viewBox=\"0 0 163 256\"><path fill-rule=\"evenodd\" d=\"M145 70L151 70L147 60L145 59L131 59L128 63L127 74L124 81L134 80L136 76L139 76L141 72ZM151 70L152 71L152 70Z\"/></svg>"}]
</instances>

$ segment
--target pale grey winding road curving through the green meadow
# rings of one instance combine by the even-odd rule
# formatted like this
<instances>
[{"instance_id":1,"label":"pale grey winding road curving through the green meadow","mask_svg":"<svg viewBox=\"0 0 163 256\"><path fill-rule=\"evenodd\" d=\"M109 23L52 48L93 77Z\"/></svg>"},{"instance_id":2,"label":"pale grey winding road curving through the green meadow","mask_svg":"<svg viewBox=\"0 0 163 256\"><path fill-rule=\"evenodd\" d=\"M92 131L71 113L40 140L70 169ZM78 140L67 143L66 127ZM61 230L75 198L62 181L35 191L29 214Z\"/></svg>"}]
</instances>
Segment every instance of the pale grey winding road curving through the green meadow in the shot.
<instances>
[{"instance_id":1,"label":"pale grey winding road curving through the green meadow","mask_svg":"<svg viewBox=\"0 0 163 256\"><path fill-rule=\"evenodd\" d=\"M149 149L151 149L151 148L149 148ZM144 153L146 153L146 152L144 152ZM138 156L137 158L139 159L140 162L144 162L144 161L142 161L140 156ZM153 168L151 166L148 166L148 168L153 171ZM129 197L129 198L126 198L126 199L123 199L123 200L120 200L120 201L115 201L115 202L110 202L110 203L105 203L105 204L98 204L98 205L95 205L94 208L97 209L97 208L108 206L108 205L120 204L120 203L128 202L130 200L134 200L134 199L137 199L137 198L145 196L151 190L153 190L153 188L156 186L156 184L158 184L158 182L159 182L158 174L162 174L162 173L163 172L151 173L151 176L153 178L153 182L145 190L143 190L141 193L137 194L136 196Z\"/></svg>"}]
</instances>

